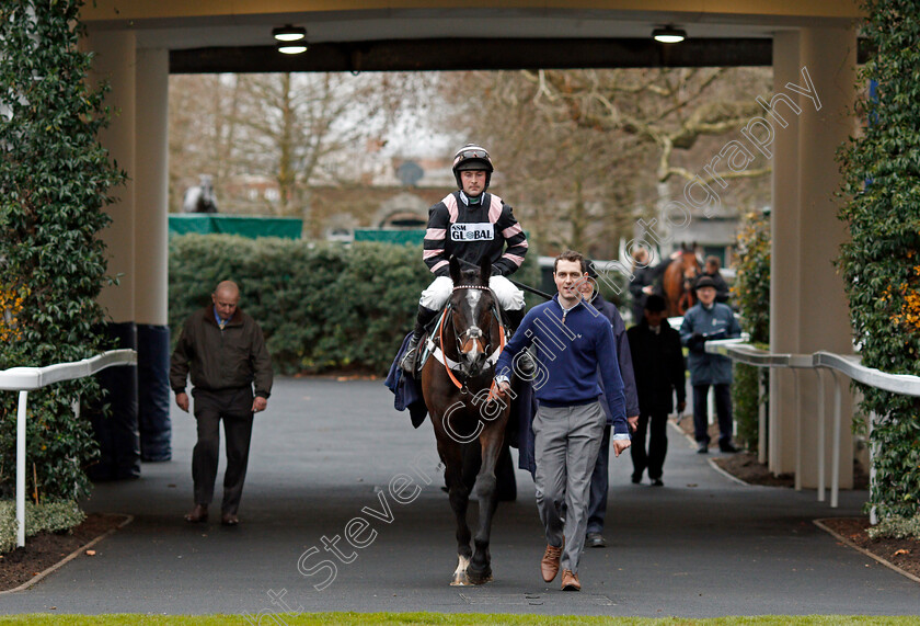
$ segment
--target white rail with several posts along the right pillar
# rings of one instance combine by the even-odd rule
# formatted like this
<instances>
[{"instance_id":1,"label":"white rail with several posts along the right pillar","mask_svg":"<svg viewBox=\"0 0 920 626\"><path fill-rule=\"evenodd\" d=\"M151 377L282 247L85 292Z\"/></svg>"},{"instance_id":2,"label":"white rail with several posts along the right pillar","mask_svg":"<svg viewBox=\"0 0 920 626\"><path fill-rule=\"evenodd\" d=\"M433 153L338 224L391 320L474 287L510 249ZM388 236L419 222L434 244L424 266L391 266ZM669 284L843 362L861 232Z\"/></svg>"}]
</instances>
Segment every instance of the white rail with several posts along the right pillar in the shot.
<instances>
[{"instance_id":1,"label":"white rail with several posts along the right pillar","mask_svg":"<svg viewBox=\"0 0 920 626\"><path fill-rule=\"evenodd\" d=\"M825 501L825 491L827 488L827 477L825 473L825 454L827 445L827 420L825 407L825 376L823 372L829 372L833 378L833 421L831 433L831 482L830 482L830 505L837 508L838 494L840 491L840 431L843 425L843 416L841 416L841 398L843 394L842 380L838 373L852 378L858 383L892 391L894 394L902 394L905 396L920 397L920 376L909 376L906 374L887 374L881 369L865 367L860 364L860 357L856 355L840 355L831 352L815 352L814 354L784 354L771 353L760 350L745 342L744 339L722 339L708 341L705 343L705 351L712 354L721 354L727 356L737 363L745 363L754 365L755 367L789 367L793 373L797 374L801 369L815 369L818 379L817 401L818 401L818 430L817 430L817 464L818 464L818 502ZM798 376L795 376L796 389L798 387ZM763 388L763 380L760 380L759 400L762 400L767 390ZM758 460L766 463L767 460L767 414L762 401L758 402L760 413L758 416ZM875 414L869 417L869 432L872 433L872 426L875 422ZM795 489L802 489L802 430L803 420L800 416L795 425ZM874 446L870 446L870 459L874 456ZM874 464L870 463L870 481L875 481ZM872 510L871 522L877 522L875 509Z\"/></svg>"}]
</instances>

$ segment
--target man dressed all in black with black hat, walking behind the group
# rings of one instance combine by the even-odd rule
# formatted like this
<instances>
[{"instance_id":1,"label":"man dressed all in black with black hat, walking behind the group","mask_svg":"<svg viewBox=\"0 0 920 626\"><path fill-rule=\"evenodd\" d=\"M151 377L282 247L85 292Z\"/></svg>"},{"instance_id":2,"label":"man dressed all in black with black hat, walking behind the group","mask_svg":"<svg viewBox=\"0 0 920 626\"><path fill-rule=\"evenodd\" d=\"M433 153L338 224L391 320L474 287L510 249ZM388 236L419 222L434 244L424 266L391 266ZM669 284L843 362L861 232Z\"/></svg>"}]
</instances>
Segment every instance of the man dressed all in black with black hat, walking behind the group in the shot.
<instances>
[{"instance_id":1,"label":"man dressed all in black with black hat, walking behind the group","mask_svg":"<svg viewBox=\"0 0 920 626\"><path fill-rule=\"evenodd\" d=\"M687 408L680 333L668 323L666 308L662 296L648 296L642 321L626 331L640 411L630 446L632 481L641 482L643 473L648 469L654 487L664 486L662 474L668 452L667 420L674 409L675 394L677 411L683 412ZM647 451L646 432L649 433Z\"/></svg>"}]
</instances>

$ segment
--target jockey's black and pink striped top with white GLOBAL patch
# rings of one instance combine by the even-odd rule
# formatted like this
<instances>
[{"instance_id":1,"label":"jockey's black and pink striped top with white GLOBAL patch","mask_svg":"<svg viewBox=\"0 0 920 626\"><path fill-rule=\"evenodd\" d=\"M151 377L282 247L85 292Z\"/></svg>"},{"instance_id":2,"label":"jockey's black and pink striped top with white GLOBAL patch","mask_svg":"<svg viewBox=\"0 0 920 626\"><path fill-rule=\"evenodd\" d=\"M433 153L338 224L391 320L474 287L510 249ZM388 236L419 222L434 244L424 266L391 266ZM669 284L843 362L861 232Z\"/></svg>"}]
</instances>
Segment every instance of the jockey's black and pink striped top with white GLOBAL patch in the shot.
<instances>
[{"instance_id":1,"label":"jockey's black and pink striped top with white GLOBAL patch","mask_svg":"<svg viewBox=\"0 0 920 626\"><path fill-rule=\"evenodd\" d=\"M527 237L497 195L483 193L480 204L467 206L456 191L428 209L424 249L425 264L436 276L450 275L451 254L476 268L488 259L493 274L507 276L524 262Z\"/></svg>"}]
</instances>

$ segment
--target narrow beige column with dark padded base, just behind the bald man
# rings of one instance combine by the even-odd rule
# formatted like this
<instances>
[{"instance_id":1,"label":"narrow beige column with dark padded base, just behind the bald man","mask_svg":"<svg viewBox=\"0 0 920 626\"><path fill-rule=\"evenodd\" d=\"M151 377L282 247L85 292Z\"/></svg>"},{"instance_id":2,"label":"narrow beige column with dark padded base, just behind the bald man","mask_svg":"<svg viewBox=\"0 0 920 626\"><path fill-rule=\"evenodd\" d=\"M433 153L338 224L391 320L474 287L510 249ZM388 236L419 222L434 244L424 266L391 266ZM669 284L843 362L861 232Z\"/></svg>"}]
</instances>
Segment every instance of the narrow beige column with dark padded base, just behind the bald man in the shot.
<instances>
[{"instance_id":1,"label":"narrow beige column with dark padded base, just behind the bald man","mask_svg":"<svg viewBox=\"0 0 920 626\"><path fill-rule=\"evenodd\" d=\"M143 460L170 460L169 50L137 52L135 311Z\"/></svg>"}]
</instances>

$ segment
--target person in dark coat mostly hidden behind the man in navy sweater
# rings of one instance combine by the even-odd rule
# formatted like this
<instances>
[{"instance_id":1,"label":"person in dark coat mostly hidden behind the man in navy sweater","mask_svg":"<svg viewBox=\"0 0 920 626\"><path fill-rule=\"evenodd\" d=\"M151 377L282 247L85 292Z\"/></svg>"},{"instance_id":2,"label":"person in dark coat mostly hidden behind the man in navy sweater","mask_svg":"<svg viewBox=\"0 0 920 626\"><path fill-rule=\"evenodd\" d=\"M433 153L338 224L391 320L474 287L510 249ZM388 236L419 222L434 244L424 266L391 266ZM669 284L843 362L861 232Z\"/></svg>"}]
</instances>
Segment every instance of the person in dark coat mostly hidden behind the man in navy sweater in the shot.
<instances>
[{"instance_id":1,"label":"person in dark coat mostly hidden behind the man in navy sweater","mask_svg":"<svg viewBox=\"0 0 920 626\"><path fill-rule=\"evenodd\" d=\"M588 263L588 276L595 278L597 273L594 271L593 263ZM620 364L620 376L623 378L623 395L626 398L626 422L630 424L630 430L635 431L636 422L639 421L639 398L635 391L635 379L633 377L632 356L630 355L630 344L626 341L626 325L623 323L623 318L613 303L608 303L600 292L596 288L594 280L585 281L580 285L582 297L601 312L603 317L610 320L610 326L613 328L613 341L617 343L617 362ZM605 402L601 400L601 407ZM607 409L605 409L606 411ZM600 442L600 452L597 455L597 463L595 464L594 474L591 474L591 491L590 500L588 501L588 526L585 543L591 548L602 548L607 546L607 540L603 538L603 519L607 515L607 488L608 467L610 464L610 424L613 423L612 417L608 416L607 426L603 429L603 439Z\"/></svg>"}]
</instances>

